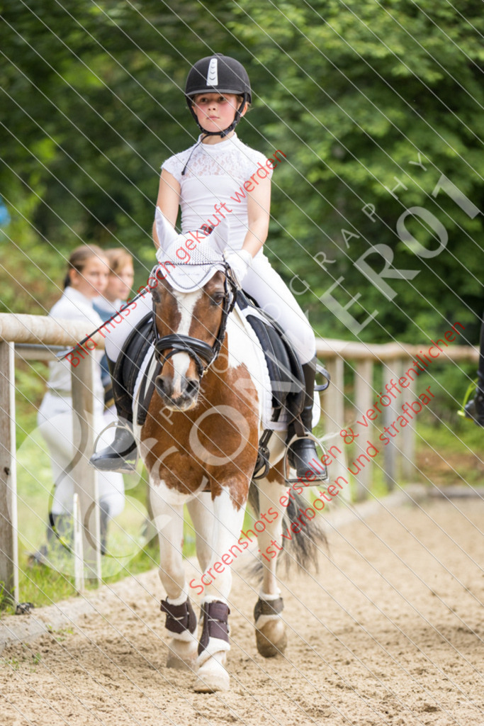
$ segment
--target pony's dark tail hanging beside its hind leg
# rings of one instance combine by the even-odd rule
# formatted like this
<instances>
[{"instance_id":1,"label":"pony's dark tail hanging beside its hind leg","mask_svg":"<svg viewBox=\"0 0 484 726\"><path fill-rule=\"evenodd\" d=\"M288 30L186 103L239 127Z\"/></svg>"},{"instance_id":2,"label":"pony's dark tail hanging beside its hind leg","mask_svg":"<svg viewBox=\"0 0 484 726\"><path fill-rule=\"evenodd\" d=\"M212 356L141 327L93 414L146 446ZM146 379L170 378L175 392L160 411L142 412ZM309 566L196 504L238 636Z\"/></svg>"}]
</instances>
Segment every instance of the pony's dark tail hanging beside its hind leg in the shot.
<instances>
[{"instance_id":1,"label":"pony's dark tail hanging beside its hind leg","mask_svg":"<svg viewBox=\"0 0 484 726\"><path fill-rule=\"evenodd\" d=\"M286 569L295 563L299 568L308 571L318 571L318 560L321 547L327 549L327 537L321 526L316 510L311 507L307 499L300 494L292 493L294 501L290 498L289 505L282 519L282 552L279 561L284 560ZM250 484L248 504L255 515L260 515L259 491L254 481ZM311 510L313 517L308 518L307 512ZM292 523L297 523L296 531L291 529ZM259 561L252 569L252 574L258 579L262 578L262 562Z\"/></svg>"}]
</instances>

